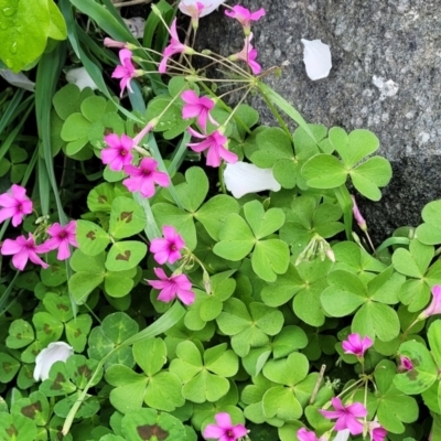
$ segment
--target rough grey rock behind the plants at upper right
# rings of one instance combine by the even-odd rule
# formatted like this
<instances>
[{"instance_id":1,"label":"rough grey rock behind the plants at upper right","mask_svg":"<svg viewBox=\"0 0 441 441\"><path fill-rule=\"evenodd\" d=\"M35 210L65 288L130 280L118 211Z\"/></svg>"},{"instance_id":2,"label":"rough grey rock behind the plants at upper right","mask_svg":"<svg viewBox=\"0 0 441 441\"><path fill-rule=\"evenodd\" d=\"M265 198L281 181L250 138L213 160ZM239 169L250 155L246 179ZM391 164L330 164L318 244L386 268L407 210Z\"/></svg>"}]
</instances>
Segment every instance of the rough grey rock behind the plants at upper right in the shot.
<instances>
[{"instance_id":1,"label":"rough grey rock behind the plants at upper right","mask_svg":"<svg viewBox=\"0 0 441 441\"><path fill-rule=\"evenodd\" d=\"M310 122L367 128L392 161L394 178L379 203L363 203L374 236L418 225L422 206L441 197L441 2L439 0L244 0L267 15L254 24L263 68L291 64L268 78ZM218 12L201 22L200 39L223 54L243 46L239 24ZM236 32L237 31L237 32ZM202 34L202 35L201 35ZM325 79L305 74L300 40L331 46ZM252 103L262 121L265 104Z\"/></svg>"}]
</instances>

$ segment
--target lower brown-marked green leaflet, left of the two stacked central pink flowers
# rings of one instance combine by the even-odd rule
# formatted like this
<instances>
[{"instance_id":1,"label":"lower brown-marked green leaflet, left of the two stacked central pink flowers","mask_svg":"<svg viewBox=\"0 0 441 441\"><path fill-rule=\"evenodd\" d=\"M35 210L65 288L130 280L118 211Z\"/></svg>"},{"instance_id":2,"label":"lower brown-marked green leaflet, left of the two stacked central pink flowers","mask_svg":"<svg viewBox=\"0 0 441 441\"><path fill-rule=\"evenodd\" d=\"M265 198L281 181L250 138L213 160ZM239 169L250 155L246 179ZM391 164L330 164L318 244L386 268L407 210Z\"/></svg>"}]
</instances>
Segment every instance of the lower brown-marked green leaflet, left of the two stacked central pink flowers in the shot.
<instances>
[{"instance_id":1,"label":"lower brown-marked green leaflet, left of the two stacked central pink flowers","mask_svg":"<svg viewBox=\"0 0 441 441\"><path fill-rule=\"evenodd\" d=\"M106 268L109 271L125 271L135 268L147 254L147 245L138 240L123 240L114 244L107 255Z\"/></svg>"}]
</instances>

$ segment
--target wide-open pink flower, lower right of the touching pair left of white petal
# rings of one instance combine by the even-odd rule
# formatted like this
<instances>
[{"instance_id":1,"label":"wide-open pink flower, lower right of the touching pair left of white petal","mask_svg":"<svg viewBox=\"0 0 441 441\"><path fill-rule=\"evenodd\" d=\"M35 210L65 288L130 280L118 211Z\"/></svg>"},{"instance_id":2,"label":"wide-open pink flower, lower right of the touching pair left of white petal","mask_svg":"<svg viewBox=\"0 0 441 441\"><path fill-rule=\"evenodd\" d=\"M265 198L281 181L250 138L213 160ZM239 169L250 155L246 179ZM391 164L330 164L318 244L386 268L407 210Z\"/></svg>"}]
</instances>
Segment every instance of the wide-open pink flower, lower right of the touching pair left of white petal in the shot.
<instances>
[{"instance_id":1,"label":"wide-open pink flower, lower right of the touching pair left of white petal","mask_svg":"<svg viewBox=\"0 0 441 441\"><path fill-rule=\"evenodd\" d=\"M164 172L157 170L158 162L152 158L141 160L139 166L125 165L123 171L129 178L122 181L130 192L140 192L144 197L151 197L154 194L154 184L161 186L170 185L170 178Z\"/></svg>"}]
</instances>

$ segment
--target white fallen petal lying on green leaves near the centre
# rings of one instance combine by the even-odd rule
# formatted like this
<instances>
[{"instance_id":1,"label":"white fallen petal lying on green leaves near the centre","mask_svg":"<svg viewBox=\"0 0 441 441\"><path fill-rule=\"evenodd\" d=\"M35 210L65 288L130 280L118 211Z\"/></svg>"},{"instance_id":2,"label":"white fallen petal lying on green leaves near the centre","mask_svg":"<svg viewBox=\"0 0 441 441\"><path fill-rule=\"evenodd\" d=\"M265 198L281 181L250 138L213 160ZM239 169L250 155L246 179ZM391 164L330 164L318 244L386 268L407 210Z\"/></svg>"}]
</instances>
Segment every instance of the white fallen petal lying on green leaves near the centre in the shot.
<instances>
[{"instance_id":1,"label":"white fallen petal lying on green leaves near the centre","mask_svg":"<svg viewBox=\"0 0 441 441\"><path fill-rule=\"evenodd\" d=\"M239 198L248 193L272 190L278 192L281 186L276 181L272 169L259 169L247 162L227 163L224 171L225 185L233 196Z\"/></svg>"}]
</instances>

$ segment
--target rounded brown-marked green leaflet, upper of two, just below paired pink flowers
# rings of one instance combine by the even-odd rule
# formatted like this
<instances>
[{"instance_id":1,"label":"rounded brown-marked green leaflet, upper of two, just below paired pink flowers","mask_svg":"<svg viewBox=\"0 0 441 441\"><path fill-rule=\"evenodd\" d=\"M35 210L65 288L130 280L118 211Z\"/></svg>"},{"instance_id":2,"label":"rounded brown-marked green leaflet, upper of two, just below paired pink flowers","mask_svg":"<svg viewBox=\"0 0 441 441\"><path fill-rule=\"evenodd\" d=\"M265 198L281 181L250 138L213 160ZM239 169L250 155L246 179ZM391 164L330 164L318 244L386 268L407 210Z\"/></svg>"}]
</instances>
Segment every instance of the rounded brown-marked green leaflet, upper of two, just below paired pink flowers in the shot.
<instances>
[{"instance_id":1,"label":"rounded brown-marked green leaflet, upper of two, just below paired pink flowers","mask_svg":"<svg viewBox=\"0 0 441 441\"><path fill-rule=\"evenodd\" d=\"M142 232L146 227L146 213L133 200L119 196L112 201L109 234L122 239Z\"/></svg>"}]
</instances>

